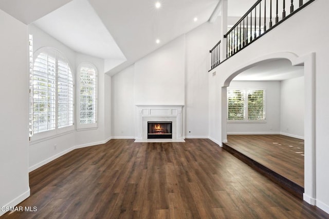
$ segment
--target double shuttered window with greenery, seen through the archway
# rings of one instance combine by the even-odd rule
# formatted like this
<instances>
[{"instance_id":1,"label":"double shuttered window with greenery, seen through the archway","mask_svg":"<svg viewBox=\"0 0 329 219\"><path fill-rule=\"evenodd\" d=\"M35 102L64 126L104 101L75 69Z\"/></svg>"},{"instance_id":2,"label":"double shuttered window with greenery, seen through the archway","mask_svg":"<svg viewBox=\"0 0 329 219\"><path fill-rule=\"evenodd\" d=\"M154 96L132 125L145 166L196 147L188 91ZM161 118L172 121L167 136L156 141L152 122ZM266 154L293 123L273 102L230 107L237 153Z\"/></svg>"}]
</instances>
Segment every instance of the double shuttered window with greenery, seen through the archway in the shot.
<instances>
[{"instance_id":1,"label":"double shuttered window with greenery, seen through the archway","mask_svg":"<svg viewBox=\"0 0 329 219\"><path fill-rule=\"evenodd\" d=\"M265 90L227 90L229 121L264 121Z\"/></svg>"}]
</instances>

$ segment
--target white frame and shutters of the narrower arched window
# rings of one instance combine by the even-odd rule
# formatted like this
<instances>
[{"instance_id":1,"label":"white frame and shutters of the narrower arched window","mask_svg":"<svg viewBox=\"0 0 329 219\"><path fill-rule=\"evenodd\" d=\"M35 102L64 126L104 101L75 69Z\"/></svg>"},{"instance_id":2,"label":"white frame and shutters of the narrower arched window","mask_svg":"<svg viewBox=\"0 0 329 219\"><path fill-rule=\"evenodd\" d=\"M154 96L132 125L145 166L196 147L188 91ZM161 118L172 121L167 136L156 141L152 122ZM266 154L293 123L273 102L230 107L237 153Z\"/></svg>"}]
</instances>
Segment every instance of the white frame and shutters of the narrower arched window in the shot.
<instances>
[{"instance_id":1,"label":"white frame and shutters of the narrower arched window","mask_svg":"<svg viewBox=\"0 0 329 219\"><path fill-rule=\"evenodd\" d=\"M82 70L84 68L84 70ZM89 75L94 72L94 79L95 83L91 87L94 87L94 98L92 99L92 110L87 110L87 103L86 99L88 98L83 93L84 87L90 87L90 85L86 85L82 77L87 76L87 72L85 69L90 69ZM97 129L98 128L98 69L97 67L90 63L90 62L82 62L77 69L77 94L79 95L79 98L77 98L77 131L79 130L88 130L88 129ZM89 96L90 98L90 96ZM83 112L84 111L84 112ZM92 121L90 121L91 118L89 118L88 121L88 113L92 113L93 118Z\"/></svg>"}]
</instances>

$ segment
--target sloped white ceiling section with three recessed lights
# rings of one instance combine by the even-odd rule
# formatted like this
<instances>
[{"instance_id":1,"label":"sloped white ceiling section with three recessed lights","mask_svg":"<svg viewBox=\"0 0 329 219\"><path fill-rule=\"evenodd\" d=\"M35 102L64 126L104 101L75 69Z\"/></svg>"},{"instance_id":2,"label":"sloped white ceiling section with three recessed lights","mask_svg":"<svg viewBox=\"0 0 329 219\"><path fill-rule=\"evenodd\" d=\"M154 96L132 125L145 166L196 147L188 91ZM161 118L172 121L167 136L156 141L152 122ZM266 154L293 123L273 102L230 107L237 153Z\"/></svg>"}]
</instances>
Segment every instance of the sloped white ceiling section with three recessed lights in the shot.
<instances>
[{"instance_id":1,"label":"sloped white ceiling section with three recessed lights","mask_svg":"<svg viewBox=\"0 0 329 219\"><path fill-rule=\"evenodd\" d=\"M179 35L209 20L218 0L89 0L111 32L127 61L111 74L133 64ZM193 18L198 17L194 22ZM219 27L218 27L219 28ZM156 44L156 39L160 44Z\"/></svg>"}]
</instances>

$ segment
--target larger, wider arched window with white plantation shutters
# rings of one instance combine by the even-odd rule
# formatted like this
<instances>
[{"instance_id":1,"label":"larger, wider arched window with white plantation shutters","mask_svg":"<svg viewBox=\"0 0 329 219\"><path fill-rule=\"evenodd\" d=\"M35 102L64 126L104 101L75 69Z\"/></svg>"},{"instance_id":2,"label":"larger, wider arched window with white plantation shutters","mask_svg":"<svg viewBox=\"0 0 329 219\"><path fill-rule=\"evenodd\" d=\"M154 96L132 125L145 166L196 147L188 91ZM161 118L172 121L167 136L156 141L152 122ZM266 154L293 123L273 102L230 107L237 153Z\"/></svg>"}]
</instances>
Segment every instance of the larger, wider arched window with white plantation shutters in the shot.
<instances>
[{"instance_id":1,"label":"larger, wider arched window with white plantation shutters","mask_svg":"<svg viewBox=\"0 0 329 219\"><path fill-rule=\"evenodd\" d=\"M74 125L73 78L60 52L47 49L33 64L33 133Z\"/></svg>"}]
</instances>

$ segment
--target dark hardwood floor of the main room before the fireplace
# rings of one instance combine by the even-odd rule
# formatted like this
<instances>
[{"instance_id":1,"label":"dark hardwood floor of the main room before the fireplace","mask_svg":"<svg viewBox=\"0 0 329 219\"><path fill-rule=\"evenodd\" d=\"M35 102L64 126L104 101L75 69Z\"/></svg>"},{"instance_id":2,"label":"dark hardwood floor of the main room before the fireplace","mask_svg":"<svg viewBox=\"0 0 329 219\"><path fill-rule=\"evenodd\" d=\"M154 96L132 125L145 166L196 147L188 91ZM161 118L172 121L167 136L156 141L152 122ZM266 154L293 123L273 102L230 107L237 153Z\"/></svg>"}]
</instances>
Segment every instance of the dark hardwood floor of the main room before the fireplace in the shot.
<instances>
[{"instance_id":1,"label":"dark hardwood floor of the main room before the fireplace","mask_svg":"<svg viewBox=\"0 0 329 219\"><path fill-rule=\"evenodd\" d=\"M30 173L35 212L3 218L329 218L208 139L111 140Z\"/></svg>"}]
</instances>

